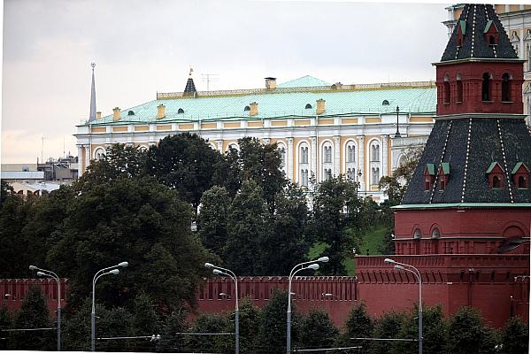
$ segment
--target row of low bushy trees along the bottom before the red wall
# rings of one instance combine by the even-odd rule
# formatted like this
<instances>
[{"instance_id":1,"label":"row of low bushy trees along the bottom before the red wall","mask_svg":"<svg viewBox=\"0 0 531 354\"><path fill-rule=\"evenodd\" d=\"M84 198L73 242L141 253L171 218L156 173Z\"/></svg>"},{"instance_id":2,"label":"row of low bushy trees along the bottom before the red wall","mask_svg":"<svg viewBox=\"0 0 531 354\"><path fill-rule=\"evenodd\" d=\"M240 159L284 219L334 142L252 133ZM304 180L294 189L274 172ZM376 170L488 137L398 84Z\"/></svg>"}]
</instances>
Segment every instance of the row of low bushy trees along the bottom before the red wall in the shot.
<instances>
[{"instance_id":1,"label":"row of low bushy trees along the bottom before the red wall","mask_svg":"<svg viewBox=\"0 0 531 354\"><path fill-rule=\"evenodd\" d=\"M263 309L249 298L240 300L240 352L284 353L286 351L286 292L275 291ZM98 351L219 352L235 350L234 312L204 313L194 319L184 309L165 316L154 311L150 296L140 294L126 307L111 310L96 307ZM90 303L63 325L63 350L89 350ZM53 327L40 289L28 292L22 308L10 314L0 310L2 328ZM369 341L355 338L410 339L418 337L417 309L410 312L386 312L373 318L364 304L355 304L342 327L335 327L328 313L312 309L292 313L292 350L343 348L314 352L369 354L417 353L418 342ZM511 318L500 330L487 326L478 312L462 308L450 318L441 307L424 309L423 349L429 354L519 354L527 353L528 328L518 317ZM203 334L203 335L197 335ZM214 335L219 334L219 335ZM225 335L220 335L225 334ZM54 350L56 331L3 332L2 350ZM118 339L112 337L138 337ZM350 349L346 349L350 348Z\"/></svg>"}]
</instances>

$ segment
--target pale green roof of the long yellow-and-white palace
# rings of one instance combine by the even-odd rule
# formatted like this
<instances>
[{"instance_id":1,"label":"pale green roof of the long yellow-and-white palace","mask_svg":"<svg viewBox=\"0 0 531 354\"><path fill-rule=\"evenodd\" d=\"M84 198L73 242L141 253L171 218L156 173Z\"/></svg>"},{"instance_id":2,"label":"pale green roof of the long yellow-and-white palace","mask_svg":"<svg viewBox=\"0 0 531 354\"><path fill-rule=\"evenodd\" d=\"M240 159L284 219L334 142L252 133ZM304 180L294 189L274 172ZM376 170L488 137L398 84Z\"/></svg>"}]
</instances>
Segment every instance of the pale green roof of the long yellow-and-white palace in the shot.
<instances>
[{"instance_id":1,"label":"pale green roof of the long yellow-and-white palace","mask_svg":"<svg viewBox=\"0 0 531 354\"><path fill-rule=\"evenodd\" d=\"M323 85L325 83L326 85ZM317 85L318 86L312 86ZM304 86L305 85L305 86ZM308 86L311 85L311 86ZM167 95L167 96L163 96ZM278 89L242 89L197 92L196 97L158 94L159 99L122 109L120 119L112 114L91 121L91 125L145 124L151 122L189 122L208 120L286 119L315 117L316 101L326 101L326 112L319 117L395 114L400 112L435 115L435 85L391 83L368 85L328 86L325 81L304 76L278 85ZM383 105L387 100L388 105ZM258 115L249 116L245 106L258 103ZM157 106L165 105L165 118L157 119ZM312 108L306 109L307 104ZM184 112L179 113L182 110ZM129 115L132 111L134 114ZM89 124L89 123L86 123Z\"/></svg>"}]
</instances>

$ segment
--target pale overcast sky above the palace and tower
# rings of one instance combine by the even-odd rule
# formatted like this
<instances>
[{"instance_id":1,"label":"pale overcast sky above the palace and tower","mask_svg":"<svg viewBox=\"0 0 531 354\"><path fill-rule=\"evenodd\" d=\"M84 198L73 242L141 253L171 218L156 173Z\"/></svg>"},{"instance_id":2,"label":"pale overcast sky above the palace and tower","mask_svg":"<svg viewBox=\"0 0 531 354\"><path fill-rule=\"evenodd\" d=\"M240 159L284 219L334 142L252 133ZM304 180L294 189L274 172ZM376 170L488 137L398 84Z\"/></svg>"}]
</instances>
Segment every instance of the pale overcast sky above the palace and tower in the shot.
<instances>
[{"instance_id":1,"label":"pale overcast sky above the palace and tower","mask_svg":"<svg viewBox=\"0 0 531 354\"><path fill-rule=\"evenodd\" d=\"M5 0L2 163L77 154L89 118L90 62L103 115L182 91L189 67L210 89L264 87L312 75L328 82L435 79L448 4Z\"/></svg>"}]
</instances>

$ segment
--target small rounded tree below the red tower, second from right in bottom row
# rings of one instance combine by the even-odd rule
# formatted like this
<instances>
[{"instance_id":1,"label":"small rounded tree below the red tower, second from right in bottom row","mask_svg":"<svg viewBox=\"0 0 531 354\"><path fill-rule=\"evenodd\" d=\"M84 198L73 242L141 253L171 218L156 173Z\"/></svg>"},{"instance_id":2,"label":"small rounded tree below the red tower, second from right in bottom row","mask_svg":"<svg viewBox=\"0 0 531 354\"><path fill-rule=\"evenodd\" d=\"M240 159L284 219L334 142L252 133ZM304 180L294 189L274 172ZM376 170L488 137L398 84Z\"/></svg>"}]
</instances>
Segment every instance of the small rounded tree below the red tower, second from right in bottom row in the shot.
<instances>
[{"instance_id":1,"label":"small rounded tree below the red tower, second from right in bottom row","mask_svg":"<svg viewBox=\"0 0 531 354\"><path fill-rule=\"evenodd\" d=\"M452 354L494 353L496 339L476 309L462 307L450 318L447 350Z\"/></svg>"}]
</instances>

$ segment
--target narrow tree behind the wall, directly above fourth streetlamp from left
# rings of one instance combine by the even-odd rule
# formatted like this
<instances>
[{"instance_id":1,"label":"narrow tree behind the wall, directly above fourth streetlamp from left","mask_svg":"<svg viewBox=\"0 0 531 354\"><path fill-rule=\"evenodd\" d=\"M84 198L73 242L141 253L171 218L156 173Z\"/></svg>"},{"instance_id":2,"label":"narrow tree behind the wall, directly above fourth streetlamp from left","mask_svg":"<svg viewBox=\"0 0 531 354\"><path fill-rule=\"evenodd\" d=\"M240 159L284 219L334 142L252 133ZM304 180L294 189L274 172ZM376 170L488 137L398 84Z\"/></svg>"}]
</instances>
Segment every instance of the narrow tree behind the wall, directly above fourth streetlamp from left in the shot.
<instances>
[{"instance_id":1,"label":"narrow tree behind the wall, directly above fourth streetlamp from left","mask_svg":"<svg viewBox=\"0 0 531 354\"><path fill-rule=\"evenodd\" d=\"M276 197L276 211L270 219L271 231L258 246L259 273L289 274L293 266L306 260L311 244L304 190L289 184Z\"/></svg>"}]
</instances>

